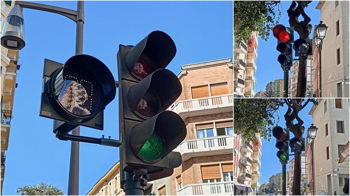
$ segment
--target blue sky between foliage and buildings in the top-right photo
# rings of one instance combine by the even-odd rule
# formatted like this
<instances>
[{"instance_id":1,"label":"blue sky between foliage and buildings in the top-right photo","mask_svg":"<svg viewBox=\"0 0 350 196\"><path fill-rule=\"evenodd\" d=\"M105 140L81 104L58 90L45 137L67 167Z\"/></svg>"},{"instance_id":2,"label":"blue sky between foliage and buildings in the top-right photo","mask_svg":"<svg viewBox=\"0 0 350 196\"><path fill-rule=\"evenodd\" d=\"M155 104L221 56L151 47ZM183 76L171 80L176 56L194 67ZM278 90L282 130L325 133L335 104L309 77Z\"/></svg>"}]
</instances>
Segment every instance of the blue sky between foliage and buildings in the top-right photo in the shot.
<instances>
[{"instance_id":1,"label":"blue sky between foliage and buildings in the top-right photo","mask_svg":"<svg viewBox=\"0 0 350 196\"><path fill-rule=\"evenodd\" d=\"M311 18L310 24L313 26L310 38L312 38L314 33L315 25L319 24L321 19L320 10L316 9L318 2L319 1L312 1L309 6L305 8L305 12ZM281 4L282 16L279 23L289 27L290 25L288 22L289 17L287 14L287 9L289 8L291 1L281 1ZM303 17L300 16L299 20L303 20ZM294 31L294 39L299 39L299 35L296 31ZM257 71L255 72L257 82L254 86L255 92L265 90L266 84L270 81L274 81L275 79L283 79L283 70L281 65L277 62L277 57L280 52L276 50L277 39L273 36L272 31L270 32L268 41L263 41L259 37L258 42L258 59L256 60Z\"/></svg>"}]
</instances>

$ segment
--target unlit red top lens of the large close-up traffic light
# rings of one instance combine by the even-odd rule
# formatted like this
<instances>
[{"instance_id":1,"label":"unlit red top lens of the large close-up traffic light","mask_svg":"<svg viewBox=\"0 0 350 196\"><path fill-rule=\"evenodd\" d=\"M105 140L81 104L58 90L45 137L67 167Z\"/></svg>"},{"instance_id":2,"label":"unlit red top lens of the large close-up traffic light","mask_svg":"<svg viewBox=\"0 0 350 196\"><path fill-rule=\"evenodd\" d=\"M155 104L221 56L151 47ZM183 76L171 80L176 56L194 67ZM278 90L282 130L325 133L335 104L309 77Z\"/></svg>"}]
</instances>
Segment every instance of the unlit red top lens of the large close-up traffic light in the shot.
<instances>
[{"instance_id":1,"label":"unlit red top lens of the large close-up traffic light","mask_svg":"<svg viewBox=\"0 0 350 196\"><path fill-rule=\"evenodd\" d=\"M141 80L155 70L156 66L154 65L152 59L148 55L142 53L131 72L133 76Z\"/></svg>"}]
</instances>

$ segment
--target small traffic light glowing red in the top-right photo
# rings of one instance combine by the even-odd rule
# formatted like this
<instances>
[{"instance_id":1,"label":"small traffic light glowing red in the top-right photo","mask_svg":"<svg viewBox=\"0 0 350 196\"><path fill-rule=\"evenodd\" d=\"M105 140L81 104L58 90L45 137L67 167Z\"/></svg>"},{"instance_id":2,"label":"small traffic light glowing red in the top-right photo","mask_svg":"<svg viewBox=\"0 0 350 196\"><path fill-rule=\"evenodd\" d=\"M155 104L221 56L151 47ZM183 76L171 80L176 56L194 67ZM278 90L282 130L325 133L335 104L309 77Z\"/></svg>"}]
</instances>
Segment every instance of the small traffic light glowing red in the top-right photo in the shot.
<instances>
[{"instance_id":1,"label":"small traffic light glowing red in the top-right photo","mask_svg":"<svg viewBox=\"0 0 350 196\"><path fill-rule=\"evenodd\" d=\"M273 36L278 40L276 50L281 53L277 61L282 67L291 67L293 65L292 43L294 42L294 28L278 24L272 29L272 32Z\"/></svg>"}]
</instances>

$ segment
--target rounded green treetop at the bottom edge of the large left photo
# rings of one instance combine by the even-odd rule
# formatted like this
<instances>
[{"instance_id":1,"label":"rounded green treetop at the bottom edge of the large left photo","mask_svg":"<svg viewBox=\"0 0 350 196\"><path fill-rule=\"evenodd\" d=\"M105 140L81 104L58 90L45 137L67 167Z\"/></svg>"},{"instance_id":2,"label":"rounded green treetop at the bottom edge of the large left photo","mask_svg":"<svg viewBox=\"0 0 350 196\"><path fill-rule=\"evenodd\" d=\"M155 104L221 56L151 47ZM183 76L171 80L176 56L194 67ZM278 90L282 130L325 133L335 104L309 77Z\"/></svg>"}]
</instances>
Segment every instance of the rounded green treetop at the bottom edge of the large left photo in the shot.
<instances>
[{"instance_id":1,"label":"rounded green treetop at the bottom edge of the large left photo","mask_svg":"<svg viewBox=\"0 0 350 196\"><path fill-rule=\"evenodd\" d=\"M17 188L18 196L63 196L62 190L54 185L39 183L37 185L29 185Z\"/></svg>"}]
</instances>

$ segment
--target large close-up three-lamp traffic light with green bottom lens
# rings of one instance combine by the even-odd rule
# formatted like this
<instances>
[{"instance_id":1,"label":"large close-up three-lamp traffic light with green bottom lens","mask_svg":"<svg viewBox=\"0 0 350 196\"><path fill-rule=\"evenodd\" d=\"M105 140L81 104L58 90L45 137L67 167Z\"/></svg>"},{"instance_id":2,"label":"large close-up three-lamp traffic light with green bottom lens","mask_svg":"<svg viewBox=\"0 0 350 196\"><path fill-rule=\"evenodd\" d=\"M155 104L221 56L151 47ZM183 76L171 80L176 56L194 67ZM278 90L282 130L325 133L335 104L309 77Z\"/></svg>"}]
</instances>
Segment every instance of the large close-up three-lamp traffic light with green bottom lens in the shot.
<instances>
[{"instance_id":1,"label":"large close-up three-lamp traffic light with green bottom lens","mask_svg":"<svg viewBox=\"0 0 350 196\"><path fill-rule=\"evenodd\" d=\"M121 169L147 169L151 179L164 178L181 165L172 152L185 138L186 127L167 110L182 91L177 76L165 67L176 53L172 38L154 31L136 46L119 46L119 117ZM169 172L170 171L170 172Z\"/></svg>"}]
</instances>

